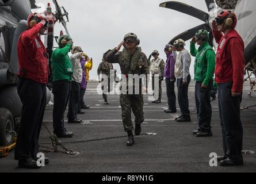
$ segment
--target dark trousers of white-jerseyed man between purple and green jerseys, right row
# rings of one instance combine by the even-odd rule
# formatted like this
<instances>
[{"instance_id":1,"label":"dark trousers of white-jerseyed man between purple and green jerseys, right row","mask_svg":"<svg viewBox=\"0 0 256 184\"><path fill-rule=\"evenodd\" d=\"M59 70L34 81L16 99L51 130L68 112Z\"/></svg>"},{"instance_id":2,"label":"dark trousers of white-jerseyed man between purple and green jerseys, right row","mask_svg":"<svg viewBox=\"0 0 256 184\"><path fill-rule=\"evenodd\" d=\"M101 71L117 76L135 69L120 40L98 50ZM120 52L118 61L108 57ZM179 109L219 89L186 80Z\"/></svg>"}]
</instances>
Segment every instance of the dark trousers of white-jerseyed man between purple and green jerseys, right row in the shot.
<instances>
[{"instance_id":1,"label":"dark trousers of white-jerseyed man between purple and green jerseys, right row","mask_svg":"<svg viewBox=\"0 0 256 184\"><path fill-rule=\"evenodd\" d=\"M178 102L179 108L181 108L181 115L182 116L190 116L189 110L189 83L191 81L191 76L188 75L188 85L182 85L183 78L177 79L177 87L178 87Z\"/></svg>"}]
</instances>

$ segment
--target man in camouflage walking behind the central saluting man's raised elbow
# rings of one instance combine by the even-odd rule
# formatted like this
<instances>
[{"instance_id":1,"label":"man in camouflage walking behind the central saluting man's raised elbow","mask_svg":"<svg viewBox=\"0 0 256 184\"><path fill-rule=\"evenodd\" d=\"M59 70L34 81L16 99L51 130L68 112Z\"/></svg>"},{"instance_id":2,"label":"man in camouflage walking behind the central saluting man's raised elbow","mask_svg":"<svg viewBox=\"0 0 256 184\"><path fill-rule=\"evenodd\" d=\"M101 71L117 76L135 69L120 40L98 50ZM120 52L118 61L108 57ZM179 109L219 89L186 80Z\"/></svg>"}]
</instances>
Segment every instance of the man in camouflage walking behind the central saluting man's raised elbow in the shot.
<instances>
[{"instance_id":1,"label":"man in camouflage walking behind the central saluting man's raised elbow","mask_svg":"<svg viewBox=\"0 0 256 184\"><path fill-rule=\"evenodd\" d=\"M108 63L104 59L102 59L102 62L98 66L97 72L98 72L98 81L102 83L101 89L103 91L102 96L105 101L105 105L109 105L108 95L105 94L104 92L106 91L105 88L108 88L108 93L110 92L110 70L113 70L113 64ZM100 76L100 75L105 75L105 78L104 76ZM106 76L108 76L108 80L106 80Z\"/></svg>"}]
</instances>

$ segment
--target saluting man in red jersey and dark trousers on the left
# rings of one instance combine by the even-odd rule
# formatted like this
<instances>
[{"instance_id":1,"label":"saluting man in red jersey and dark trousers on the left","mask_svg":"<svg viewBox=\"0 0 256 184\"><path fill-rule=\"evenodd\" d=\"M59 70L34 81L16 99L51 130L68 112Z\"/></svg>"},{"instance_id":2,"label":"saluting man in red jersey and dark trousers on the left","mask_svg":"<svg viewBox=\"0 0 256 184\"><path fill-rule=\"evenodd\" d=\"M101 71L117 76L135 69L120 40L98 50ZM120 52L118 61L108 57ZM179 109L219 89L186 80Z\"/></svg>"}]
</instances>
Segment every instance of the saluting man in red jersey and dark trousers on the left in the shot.
<instances>
[{"instance_id":1,"label":"saluting man in red jersey and dark trousers on the left","mask_svg":"<svg viewBox=\"0 0 256 184\"><path fill-rule=\"evenodd\" d=\"M47 30L48 20L41 14L28 17L28 30L18 40L19 81L18 95L22 106L20 130L15 150L18 165L25 168L37 166L39 134L46 105L46 84L48 82L47 51L40 34ZM48 159L45 159L48 163Z\"/></svg>"}]
</instances>

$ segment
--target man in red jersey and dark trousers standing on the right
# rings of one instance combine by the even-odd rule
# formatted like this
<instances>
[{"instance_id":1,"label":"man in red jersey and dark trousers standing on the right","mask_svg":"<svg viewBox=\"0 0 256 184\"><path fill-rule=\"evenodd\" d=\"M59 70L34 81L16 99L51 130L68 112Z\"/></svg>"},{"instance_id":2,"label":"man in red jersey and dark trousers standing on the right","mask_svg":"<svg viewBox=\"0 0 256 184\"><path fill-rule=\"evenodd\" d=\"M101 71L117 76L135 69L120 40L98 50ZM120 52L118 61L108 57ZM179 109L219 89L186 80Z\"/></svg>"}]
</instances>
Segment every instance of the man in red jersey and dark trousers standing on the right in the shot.
<instances>
[{"instance_id":1,"label":"man in red jersey and dark trousers standing on the right","mask_svg":"<svg viewBox=\"0 0 256 184\"><path fill-rule=\"evenodd\" d=\"M240 120L244 79L244 43L235 26L237 18L231 11L221 11L213 21L217 44L215 81L219 95L220 121L224 156L221 166L243 165L243 127ZM224 34L223 34L224 33Z\"/></svg>"}]
</instances>

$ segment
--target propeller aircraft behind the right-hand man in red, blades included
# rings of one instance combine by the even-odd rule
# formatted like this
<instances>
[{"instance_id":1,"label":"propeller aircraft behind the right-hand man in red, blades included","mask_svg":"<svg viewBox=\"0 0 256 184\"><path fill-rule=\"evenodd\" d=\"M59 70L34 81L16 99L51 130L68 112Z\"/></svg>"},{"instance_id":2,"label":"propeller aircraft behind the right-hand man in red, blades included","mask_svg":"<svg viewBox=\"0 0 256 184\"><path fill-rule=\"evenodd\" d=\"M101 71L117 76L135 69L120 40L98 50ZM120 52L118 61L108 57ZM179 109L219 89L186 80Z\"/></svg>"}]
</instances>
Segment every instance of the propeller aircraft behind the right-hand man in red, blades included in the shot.
<instances>
[{"instance_id":1,"label":"propeller aircraft behind the right-hand man in red, blades included","mask_svg":"<svg viewBox=\"0 0 256 184\"><path fill-rule=\"evenodd\" d=\"M177 1L163 2L159 5L160 7L173 9L196 17L204 22L204 24L198 25L192 29L186 30L181 34L178 34L171 39L169 44L173 44L177 39L183 39L185 41L192 39L197 30L206 29L209 32L209 44L215 46L216 48L217 44L212 35L212 21L215 20L217 14L219 14L222 10L234 11L238 17L238 24L235 29L238 31L240 36L242 36L245 47L244 58L246 60L246 67L244 68L244 75L247 75L247 77L244 81L249 79L251 89L248 95L249 97L252 97L256 87L256 24L254 24L251 20L255 20L256 18L256 11L254 10L254 7L256 7L256 1L216 0L215 2L214 0L205 0L205 3L208 7L208 13L197 9L196 7ZM255 77L254 79L252 77L253 75Z\"/></svg>"}]
</instances>

